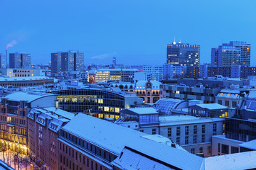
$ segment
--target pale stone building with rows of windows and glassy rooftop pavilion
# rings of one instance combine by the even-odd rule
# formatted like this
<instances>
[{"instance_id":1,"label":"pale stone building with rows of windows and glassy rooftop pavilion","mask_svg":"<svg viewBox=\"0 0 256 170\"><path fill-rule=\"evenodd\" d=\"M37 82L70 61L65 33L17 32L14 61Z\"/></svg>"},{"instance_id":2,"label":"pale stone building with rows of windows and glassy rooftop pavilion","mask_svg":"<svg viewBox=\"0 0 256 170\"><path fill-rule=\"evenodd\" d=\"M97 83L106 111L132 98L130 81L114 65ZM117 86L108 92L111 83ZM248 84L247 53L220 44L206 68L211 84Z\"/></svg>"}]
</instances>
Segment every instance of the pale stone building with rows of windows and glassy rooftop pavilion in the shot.
<instances>
[{"instance_id":1,"label":"pale stone building with rows of windows and glassy rooftop pavilion","mask_svg":"<svg viewBox=\"0 0 256 170\"><path fill-rule=\"evenodd\" d=\"M172 106L166 106L166 110L168 108ZM188 152L203 154L204 157L211 156L211 137L223 134L224 118L196 118L191 115L161 116L154 108L124 109L121 111L121 116L124 121L118 121L119 125L130 127L129 122L137 122L135 130L168 137Z\"/></svg>"}]
</instances>

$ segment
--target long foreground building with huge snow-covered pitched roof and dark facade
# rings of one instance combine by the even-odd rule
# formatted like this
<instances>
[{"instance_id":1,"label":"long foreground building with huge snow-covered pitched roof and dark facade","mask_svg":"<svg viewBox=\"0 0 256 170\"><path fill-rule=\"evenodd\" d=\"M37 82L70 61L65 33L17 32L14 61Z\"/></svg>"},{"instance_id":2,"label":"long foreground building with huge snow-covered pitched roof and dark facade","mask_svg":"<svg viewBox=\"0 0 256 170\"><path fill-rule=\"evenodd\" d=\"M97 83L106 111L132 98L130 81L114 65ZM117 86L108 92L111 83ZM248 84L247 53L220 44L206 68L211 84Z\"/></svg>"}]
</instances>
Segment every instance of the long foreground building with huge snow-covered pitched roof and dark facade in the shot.
<instances>
[{"instance_id":1,"label":"long foreground building with huge snow-covered pitched roof and dark facade","mask_svg":"<svg viewBox=\"0 0 256 170\"><path fill-rule=\"evenodd\" d=\"M59 169L201 169L203 164L203 158L171 147L162 137L83 114L60 129L58 140Z\"/></svg>"}]
</instances>

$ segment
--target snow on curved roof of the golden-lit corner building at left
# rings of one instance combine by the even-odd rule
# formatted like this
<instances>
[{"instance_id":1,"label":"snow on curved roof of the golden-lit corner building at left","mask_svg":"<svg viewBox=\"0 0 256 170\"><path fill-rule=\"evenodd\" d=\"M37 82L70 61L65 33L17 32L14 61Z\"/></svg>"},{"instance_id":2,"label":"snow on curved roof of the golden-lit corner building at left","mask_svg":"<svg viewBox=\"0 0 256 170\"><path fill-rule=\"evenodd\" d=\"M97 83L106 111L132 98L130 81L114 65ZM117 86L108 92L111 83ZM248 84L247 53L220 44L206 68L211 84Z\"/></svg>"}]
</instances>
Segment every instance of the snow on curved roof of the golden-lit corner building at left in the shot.
<instances>
[{"instance_id":1,"label":"snow on curved roof of the golden-lit corner building at left","mask_svg":"<svg viewBox=\"0 0 256 170\"><path fill-rule=\"evenodd\" d=\"M9 94L4 98L7 98L9 101L35 101L38 98L43 98L47 96L56 96L56 94L44 94L44 93L36 93L36 92L17 92L13 94Z\"/></svg>"}]
</instances>

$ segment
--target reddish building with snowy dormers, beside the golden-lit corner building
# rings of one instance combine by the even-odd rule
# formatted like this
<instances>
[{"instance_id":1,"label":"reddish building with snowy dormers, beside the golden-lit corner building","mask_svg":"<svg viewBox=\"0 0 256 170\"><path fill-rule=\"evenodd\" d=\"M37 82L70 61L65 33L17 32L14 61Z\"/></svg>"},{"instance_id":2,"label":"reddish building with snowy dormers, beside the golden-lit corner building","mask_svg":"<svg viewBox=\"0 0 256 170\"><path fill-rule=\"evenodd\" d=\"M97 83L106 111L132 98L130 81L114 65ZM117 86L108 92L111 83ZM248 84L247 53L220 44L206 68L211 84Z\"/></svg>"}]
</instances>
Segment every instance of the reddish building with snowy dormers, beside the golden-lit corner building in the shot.
<instances>
[{"instance_id":1,"label":"reddish building with snowy dormers, beside the golden-lit corner building","mask_svg":"<svg viewBox=\"0 0 256 170\"><path fill-rule=\"evenodd\" d=\"M28 113L28 155L40 168L58 169L58 131L74 116L55 107L33 108Z\"/></svg>"}]
</instances>

